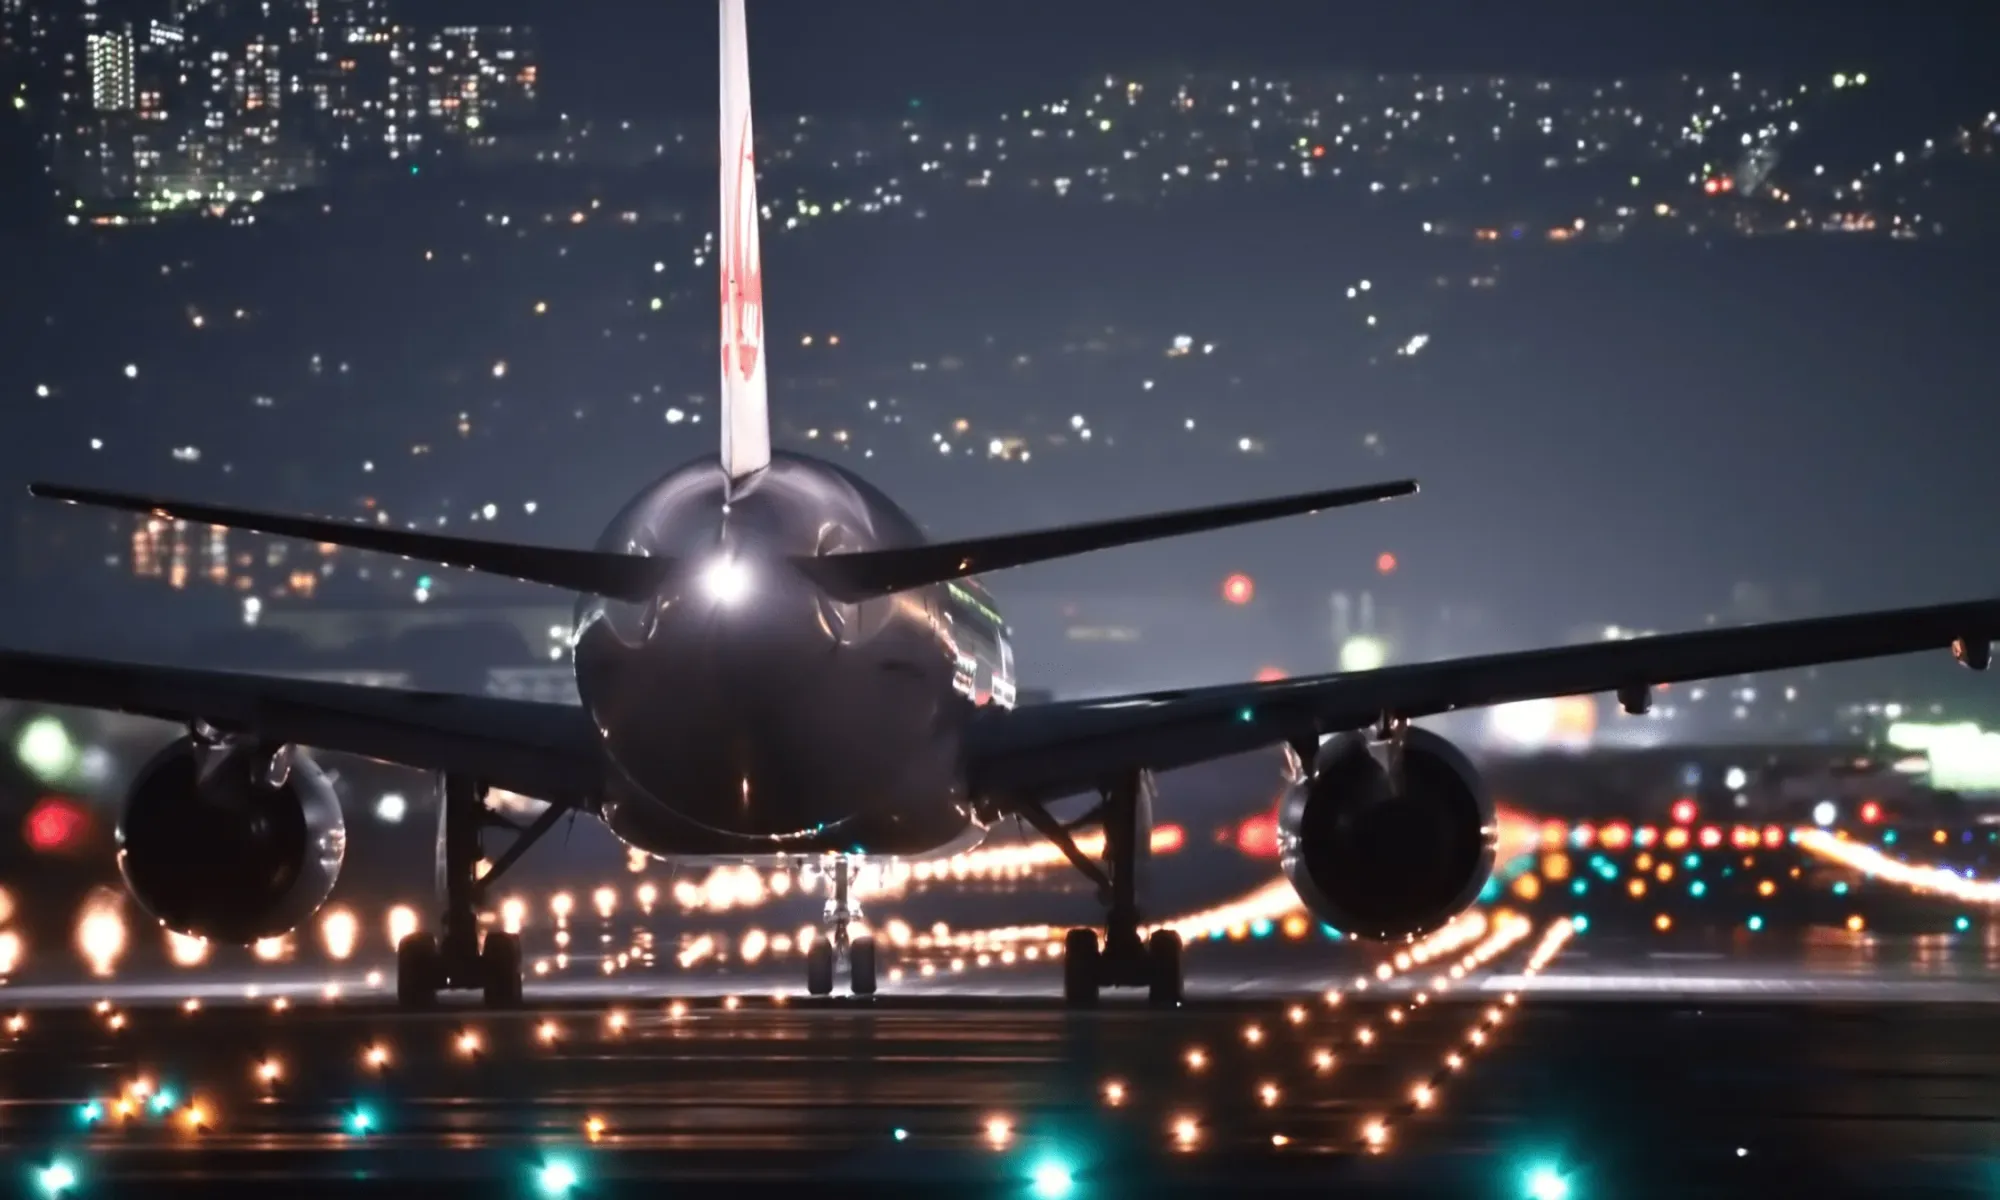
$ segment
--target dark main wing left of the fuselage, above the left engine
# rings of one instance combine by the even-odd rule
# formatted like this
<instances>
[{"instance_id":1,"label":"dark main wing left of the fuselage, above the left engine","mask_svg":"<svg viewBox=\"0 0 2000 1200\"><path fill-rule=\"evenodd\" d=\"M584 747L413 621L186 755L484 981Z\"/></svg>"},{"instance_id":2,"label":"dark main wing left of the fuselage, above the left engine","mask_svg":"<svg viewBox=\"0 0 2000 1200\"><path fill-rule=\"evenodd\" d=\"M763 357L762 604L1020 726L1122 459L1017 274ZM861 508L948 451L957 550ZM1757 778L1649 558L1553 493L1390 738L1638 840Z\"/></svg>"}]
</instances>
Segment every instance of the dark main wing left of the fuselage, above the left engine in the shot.
<instances>
[{"instance_id":1,"label":"dark main wing left of the fuselage, above the left engine","mask_svg":"<svg viewBox=\"0 0 2000 1200\"><path fill-rule=\"evenodd\" d=\"M582 708L0 650L0 696L196 720L226 734L450 770L576 806L604 754Z\"/></svg>"}]
</instances>

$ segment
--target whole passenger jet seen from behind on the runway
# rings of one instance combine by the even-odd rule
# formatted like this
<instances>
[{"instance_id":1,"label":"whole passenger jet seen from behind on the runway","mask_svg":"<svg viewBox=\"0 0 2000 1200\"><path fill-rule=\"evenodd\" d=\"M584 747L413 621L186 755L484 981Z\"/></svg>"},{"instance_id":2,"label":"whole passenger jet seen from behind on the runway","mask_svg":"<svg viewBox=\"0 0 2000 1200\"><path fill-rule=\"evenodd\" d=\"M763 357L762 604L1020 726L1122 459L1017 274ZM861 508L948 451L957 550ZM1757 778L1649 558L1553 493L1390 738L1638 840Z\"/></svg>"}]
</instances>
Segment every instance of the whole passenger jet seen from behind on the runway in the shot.
<instances>
[{"instance_id":1,"label":"whole passenger jet seen from behind on the runway","mask_svg":"<svg viewBox=\"0 0 2000 1200\"><path fill-rule=\"evenodd\" d=\"M0 652L0 696L164 718L186 732L136 776L118 870L170 930L252 942L296 928L330 894L346 826L312 750L434 772L442 794L438 930L396 946L396 996L432 1006L478 990L522 1000L516 934L480 930L492 884L566 814L676 862L824 864L826 936L806 990L878 988L854 936L854 870L944 856L1018 818L1096 884L1104 932L1070 930L1062 992L1184 996L1182 944L1148 928L1156 772L1282 746L1280 868L1324 924L1378 940L1434 930L1494 868L1478 770L1412 722L1468 706L1612 692L1950 648L1992 664L2000 600L1558 646L1444 662L1014 706L1014 660L974 580L1110 546L1416 492L1410 480L1094 524L926 542L860 476L770 444L756 162L742 0L722 26L720 448L646 486L592 550L456 538L346 520L32 484L30 494L168 520L398 554L580 594L570 638L582 706ZM544 800L502 820L492 790ZM1080 818L1050 802L1096 794ZM486 862L484 832L516 836ZM1098 826L1090 858L1074 834ZM486 870L482 872L482 864Z\"/></svg>"}]
</instances>

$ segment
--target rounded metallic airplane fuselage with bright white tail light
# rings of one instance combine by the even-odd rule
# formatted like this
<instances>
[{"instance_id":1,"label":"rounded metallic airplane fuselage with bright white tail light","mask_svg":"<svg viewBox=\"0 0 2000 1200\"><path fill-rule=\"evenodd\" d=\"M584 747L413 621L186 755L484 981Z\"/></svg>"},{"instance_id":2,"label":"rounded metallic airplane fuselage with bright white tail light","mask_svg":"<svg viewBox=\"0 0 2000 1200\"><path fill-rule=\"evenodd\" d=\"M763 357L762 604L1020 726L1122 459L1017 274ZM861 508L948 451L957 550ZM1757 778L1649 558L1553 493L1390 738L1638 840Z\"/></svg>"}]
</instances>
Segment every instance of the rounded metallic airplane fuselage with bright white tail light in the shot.
<instances>
[{"instance_id":1,"label":"rounded metallic airplane fuselage with bright white tail light","mask_svg":"<svg viewBox=\"0 0 2000 1200\"><path fill-rule=\"evenodd\" d=\"M626 504L598 550L686 568L644 604L578 602L612 832L662 856L976 844L960 736L978 704L1014 700L992 602L940 584L842 604L786 562L922 542L880 490L800 454L734 486L696 460Z\"/></svg>"}]
</instances>

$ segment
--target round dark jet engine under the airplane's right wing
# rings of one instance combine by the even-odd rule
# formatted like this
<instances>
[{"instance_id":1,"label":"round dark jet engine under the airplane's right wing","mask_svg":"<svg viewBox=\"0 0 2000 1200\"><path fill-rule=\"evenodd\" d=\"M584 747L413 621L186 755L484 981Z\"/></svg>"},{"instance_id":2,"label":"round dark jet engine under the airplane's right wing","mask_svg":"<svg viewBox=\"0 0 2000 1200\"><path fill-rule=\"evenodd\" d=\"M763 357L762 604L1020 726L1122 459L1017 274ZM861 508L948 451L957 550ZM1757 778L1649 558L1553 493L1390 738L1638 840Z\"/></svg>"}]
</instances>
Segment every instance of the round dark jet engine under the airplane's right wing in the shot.
<instances>
[{"instance_id":1,"label":"round dark jet engine under the airplane's right wing","mask_svg":"<svg viewBox=\"0 0 2000 1200\"><path fill-rule=\"evenodd\" d=\"M1498 826L1478 770L1438 734L1404 732L1400 788L1388 756L1364 734L1326 740L1278 808L1278 860L1318 920L1402 940L1472 904Z\"/></svg>"}]
</instances>

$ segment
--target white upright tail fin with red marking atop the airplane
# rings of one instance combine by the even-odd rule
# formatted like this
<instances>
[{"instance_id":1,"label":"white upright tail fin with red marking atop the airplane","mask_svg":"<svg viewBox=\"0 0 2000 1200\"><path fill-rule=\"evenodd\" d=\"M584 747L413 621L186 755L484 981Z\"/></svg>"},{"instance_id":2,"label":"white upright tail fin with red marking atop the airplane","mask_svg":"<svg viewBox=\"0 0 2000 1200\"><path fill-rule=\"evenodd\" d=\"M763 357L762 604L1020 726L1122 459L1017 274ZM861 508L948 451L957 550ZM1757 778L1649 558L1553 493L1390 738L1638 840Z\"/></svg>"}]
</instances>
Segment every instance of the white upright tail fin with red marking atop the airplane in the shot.
<instances>
[{"instance_id":1,"label":"white upright tail fin with red marking atop the airplane","mask_svg":"<svg viewBox=\"0 0 2000 1200\"><path fill-rule=\"evenodd\" d=\"M722 0L722 224L716 260L722 272L722 470L730 482L770 466L754 150L744 0Z\"/></svg>"}]
</instances>

